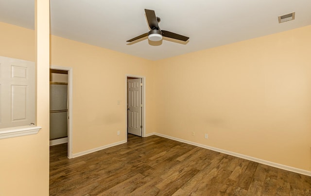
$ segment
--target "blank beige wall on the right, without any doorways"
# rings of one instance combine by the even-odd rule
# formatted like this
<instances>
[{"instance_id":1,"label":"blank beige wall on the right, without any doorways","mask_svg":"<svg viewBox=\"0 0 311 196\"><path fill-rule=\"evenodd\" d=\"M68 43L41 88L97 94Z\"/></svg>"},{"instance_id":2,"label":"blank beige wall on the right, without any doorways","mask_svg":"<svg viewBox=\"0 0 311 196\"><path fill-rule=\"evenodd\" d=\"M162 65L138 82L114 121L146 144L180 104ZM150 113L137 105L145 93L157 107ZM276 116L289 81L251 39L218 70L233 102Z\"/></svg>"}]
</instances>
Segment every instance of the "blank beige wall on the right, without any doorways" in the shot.
<instances>
[{"instance_id":1,"label":"blank beige wall on the right, without any doorways","mask_svg":"<svg viewBox=\"0 0 311 196\"><path fill-rule=\"evenodd\" d=\"M311 170L310 35L307 26L158 61L155 131Z\"/></svg>"}]
</instances>

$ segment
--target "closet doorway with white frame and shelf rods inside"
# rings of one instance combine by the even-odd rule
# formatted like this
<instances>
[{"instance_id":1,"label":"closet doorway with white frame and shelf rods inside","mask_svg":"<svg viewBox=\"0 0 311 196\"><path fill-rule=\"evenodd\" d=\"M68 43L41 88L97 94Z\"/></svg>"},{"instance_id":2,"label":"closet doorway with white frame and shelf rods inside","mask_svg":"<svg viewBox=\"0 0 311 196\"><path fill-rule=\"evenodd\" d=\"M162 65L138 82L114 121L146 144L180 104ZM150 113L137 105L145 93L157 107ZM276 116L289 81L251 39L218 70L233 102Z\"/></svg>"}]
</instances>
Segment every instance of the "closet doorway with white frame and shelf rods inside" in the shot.
<instances>
[{"instance_id":1,"label":"closet doorway with white frame and shelf rods inside","mask_svg":"<svg viewBox=\"0 0 311 196\"><path fill-rule=\"evenodd\" d=\"M68 143L72 158L72 68L50 66L50 146ZM52 97L53 96L53 97ZM53 131L51 133L51 131ZM54 143L53 143L54 141Z\"/></svg>"}]
</instances>

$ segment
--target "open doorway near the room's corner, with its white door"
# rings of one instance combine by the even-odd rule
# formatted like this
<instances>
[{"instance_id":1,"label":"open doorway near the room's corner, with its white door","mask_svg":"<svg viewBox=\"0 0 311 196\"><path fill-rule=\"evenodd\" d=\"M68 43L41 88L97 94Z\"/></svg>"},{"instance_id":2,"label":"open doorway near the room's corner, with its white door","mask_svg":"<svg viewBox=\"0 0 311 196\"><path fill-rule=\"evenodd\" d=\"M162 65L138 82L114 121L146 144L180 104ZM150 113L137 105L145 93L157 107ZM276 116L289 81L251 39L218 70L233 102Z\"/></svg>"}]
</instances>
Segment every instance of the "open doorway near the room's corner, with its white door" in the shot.
<instances>
[{"instance_id":1,"label":"open doorway near the room's corner, with its white door","mask_svg":"<svg viewBox=\"0 0 311 196\"><path fill-rule=\"evenodd\" d=\"M145 136L145 78L126 76L127 134Z\"/></svg>"}]
</instances>

